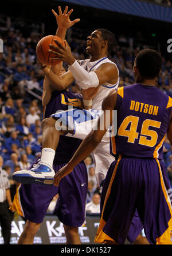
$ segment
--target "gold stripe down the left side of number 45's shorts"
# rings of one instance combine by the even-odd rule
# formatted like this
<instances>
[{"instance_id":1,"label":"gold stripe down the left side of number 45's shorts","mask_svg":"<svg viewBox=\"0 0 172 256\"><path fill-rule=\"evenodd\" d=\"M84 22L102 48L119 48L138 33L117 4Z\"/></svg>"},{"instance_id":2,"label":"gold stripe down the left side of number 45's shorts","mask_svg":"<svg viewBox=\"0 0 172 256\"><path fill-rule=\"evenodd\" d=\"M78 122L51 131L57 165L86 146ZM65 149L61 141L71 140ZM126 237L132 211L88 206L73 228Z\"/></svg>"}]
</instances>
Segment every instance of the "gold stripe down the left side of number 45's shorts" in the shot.
<instances>
[{"instance_id":1,"label":"gold stripe down the left side of number 45's shorts","mask_svg":"<svg viewBox=\"0 0 172 256\"><path fill-rule=\"evenodd\" d=\"M110 197L110 194L111 194L112 184L114 182L115 175L116 175L116 170L118 168L118 165L119 165L119 162L120 162L121 158L122 158L122 155L119 155L118 161L115 165L114 172L113 172L112 177L111 177L110 185L108 186L108 190L107 190L107 193L105 195L105 201L104 201L103 210L102 210L102 213L101 213L100 224L99 224L99 228L97 230L97 234L96 234L96 237L95 237L95 242L96 243L105 243L105 240L115 242L114 239L112 239L110 236L108 236L107 234L105 234L103 232L103 228L106 224L106 222L103 220L103 213L104 213L104 209L105 209L105 205L107 203L107 200L108 200L108 198Z\"/></svg>"}]
</instances>

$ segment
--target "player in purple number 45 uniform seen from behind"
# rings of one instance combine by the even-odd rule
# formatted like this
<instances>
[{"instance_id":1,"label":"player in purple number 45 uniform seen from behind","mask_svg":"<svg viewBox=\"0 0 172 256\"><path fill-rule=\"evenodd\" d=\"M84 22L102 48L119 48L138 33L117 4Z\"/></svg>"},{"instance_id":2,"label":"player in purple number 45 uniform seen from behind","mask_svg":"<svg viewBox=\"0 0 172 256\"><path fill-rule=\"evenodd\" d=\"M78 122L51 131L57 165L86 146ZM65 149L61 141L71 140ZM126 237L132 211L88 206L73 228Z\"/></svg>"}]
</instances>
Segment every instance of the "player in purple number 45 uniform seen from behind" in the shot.
<instances>
[{"instance_id":1,"label":"player in purple number 45 uniform seen from behind","mask_svg":"<svg viewBox=\"0 0 172 256\"><path fill-rule=\"evenodd\" d=\"M157 51L140 51L134 62L136 84L112 90L103 100L104 115L109 114L111 123L117 110L118 133L111 136L116 160L105 178L95 242L123 244L137 209L148 242L172 244L170 186L162 163L166 133L172 145L172 99L155 87L161 66ZM99 144L107 131L100 129L100 122L101 117L98 129L89 133L72 160L54 176L54 185Z\"/></svg>"}]
</instances>

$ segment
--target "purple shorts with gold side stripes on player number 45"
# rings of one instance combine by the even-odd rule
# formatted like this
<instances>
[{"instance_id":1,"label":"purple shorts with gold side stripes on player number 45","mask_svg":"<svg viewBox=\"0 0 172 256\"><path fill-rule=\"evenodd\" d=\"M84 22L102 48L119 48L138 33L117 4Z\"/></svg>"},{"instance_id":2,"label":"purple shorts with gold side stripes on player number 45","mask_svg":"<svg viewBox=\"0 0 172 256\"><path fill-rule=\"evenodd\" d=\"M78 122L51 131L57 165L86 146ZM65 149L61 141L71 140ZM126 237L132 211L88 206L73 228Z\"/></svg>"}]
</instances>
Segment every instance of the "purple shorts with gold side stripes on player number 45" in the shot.
<instances>
[{"instance_id":1,"label":"purple shorts with gold side stripes on player number 45","mask_svg":"<svg viewBox=\"0 0 172 256\"><path fill-rule=\"evenodd\" d=\"M172 244L170 191L162 161L119 156L103 185L95 242L124 244L137 210L150 244Z\"/></svg>"}]
</instances>

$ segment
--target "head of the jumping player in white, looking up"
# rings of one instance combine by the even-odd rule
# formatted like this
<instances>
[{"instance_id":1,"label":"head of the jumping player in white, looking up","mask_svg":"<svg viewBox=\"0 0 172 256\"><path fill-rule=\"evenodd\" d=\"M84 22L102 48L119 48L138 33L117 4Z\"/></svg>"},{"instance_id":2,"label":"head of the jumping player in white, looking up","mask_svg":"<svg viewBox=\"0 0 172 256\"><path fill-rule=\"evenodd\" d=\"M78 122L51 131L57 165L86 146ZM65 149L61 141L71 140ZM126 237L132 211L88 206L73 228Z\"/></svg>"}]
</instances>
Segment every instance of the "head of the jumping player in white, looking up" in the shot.
<instances>
[{"instance_id":1,"label":"head of the jumping player in white, looking up","mask_svg":"<svg viewBox=\"0 0 172 256\"><path fill-rule=\"evenodd\" d=\"M115 44L115 36L111 31L98 28L87 37L87 53L90 55L100 54L101 51L110 54Z\"/></svg>"}]
</instances>

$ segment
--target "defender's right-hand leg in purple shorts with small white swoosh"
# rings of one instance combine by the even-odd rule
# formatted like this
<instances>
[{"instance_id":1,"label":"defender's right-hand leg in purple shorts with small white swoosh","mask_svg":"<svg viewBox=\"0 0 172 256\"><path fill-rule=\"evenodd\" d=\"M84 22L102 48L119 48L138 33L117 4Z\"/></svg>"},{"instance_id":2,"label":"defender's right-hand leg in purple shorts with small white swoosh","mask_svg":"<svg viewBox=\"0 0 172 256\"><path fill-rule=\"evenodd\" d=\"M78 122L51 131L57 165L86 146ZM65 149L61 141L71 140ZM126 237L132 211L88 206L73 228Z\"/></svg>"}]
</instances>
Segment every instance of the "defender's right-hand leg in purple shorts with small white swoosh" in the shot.
<instances>
[{"instance_id":1,"label":"defender's right-hand leg in purple shorts with small white swoosh","mask_svg":"<svg viewBox=\"0 0 172 256\"><path fill-rule=\"evenodd\" d=\"M59 170L65 163L57 163ZM79 227L85 221L85 205L87 198L88 174L82 161L73 171L60 180L59 198L54 210L61 223L64 224L67 244L80 244Z\"/></svg>"}]
</instances>

